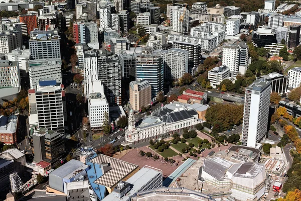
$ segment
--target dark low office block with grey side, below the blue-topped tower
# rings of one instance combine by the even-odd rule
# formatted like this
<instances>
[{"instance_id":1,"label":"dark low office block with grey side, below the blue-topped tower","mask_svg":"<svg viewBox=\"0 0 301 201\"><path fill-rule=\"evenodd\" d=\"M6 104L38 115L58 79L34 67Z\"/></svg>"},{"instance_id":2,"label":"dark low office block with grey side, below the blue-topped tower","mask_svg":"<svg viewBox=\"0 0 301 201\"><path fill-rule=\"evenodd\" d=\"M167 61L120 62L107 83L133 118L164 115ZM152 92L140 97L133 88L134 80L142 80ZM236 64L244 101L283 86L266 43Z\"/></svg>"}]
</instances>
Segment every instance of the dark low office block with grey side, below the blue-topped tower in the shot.
<instances>
[{"instance_id":1,"label":"dark low office block with grey side, below the blue-topped tower","mask_svg":"<svg viewBox=\"0 0 301 201\"><path fill-rule=\"evenodd\" d=\"M36 162L43 160L52 165L61 163L65 151L64 134L41 127L35 128L31 146Z\"/></svg>"}]
</instances>

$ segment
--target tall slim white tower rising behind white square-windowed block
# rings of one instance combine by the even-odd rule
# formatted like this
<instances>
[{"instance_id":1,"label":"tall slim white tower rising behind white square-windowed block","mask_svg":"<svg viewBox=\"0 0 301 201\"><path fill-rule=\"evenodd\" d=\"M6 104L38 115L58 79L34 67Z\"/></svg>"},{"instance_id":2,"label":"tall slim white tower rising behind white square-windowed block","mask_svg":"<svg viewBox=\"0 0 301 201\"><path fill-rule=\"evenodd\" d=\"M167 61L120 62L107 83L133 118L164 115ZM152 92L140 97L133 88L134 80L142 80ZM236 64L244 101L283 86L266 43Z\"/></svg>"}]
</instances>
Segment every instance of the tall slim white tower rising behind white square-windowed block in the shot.
<instances>
[{"instance_id":1,"label":"tall slim white tower rising behind white square-windowed block","mask_svg":"<svg viewBox=\"0 0 301 201\"><path fill-rule=\"evenodd\" d=\"M93 93L93 81L98 80L97 52L86 51L84 53L84 91L88 98Z\"/></svg>"}]
</instances>

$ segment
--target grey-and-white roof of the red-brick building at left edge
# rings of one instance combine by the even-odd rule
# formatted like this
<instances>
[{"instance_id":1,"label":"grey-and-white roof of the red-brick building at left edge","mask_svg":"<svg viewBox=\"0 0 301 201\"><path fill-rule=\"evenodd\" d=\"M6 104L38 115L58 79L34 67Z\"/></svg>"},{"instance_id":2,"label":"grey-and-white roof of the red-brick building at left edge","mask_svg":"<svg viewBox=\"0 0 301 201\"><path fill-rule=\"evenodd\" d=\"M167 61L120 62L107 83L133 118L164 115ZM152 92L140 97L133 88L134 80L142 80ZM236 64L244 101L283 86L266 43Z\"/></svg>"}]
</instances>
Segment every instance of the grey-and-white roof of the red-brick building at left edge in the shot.
<instances>
[{"instance_id":1,"label":"grey-and-white roof of the red-brick building at left edge","mask_svg":"<svg viewBox=\"0 0 301 201\"><path fill-rule=\"evenodd\" d=\"M0 116L0 133L13 134L17 132L18 116Z\"/></svg>"}]
</instances>

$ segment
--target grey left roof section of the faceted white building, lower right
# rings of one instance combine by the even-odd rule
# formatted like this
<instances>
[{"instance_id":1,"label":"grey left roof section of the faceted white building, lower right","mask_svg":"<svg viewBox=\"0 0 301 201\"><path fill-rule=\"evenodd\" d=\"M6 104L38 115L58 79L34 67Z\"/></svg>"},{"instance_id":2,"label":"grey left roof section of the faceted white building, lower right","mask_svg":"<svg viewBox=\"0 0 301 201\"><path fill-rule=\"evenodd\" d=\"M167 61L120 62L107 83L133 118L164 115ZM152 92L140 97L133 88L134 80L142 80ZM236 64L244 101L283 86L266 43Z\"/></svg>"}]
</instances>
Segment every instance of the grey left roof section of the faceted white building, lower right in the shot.
<instances>
[{"instance_id":1,"label":"grey left roof section of the faceted white building, lower right","mask_svg":"<svg viewBox=\"0 0 301 201\"><path fill-rule=\"evenodd\" d=\"M203 171L221 181L227 170L233 164L234 163L220 157L206 158L204 160Z\"/></svg>"}]
</instances>

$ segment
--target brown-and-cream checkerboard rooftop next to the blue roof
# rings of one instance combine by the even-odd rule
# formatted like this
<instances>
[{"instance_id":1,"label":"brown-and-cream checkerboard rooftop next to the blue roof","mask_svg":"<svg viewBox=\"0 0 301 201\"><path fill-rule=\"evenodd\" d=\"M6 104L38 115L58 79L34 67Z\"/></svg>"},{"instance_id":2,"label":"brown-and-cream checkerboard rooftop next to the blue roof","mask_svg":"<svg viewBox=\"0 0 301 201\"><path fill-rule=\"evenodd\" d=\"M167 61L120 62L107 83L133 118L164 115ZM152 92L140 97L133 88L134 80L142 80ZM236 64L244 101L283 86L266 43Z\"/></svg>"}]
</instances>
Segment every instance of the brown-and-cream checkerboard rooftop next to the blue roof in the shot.
<instances>
[{"instance_id":1,"label":"brown-and-cream checkerboard rooftop next to the blue roof","mask_svg":"<svg viewBox=\"0 0 301 201\"><path fill-rule=\"evenodd\" d=\"M103 154L99 154L92 158L90 162L98 165L107 165L107 171L100 177L98 177L94 183L112 187L118 183L125 176L133 172L138 168L138 165L124 162L122 160L112 158Z\"/></svg>"}]
</instances>

